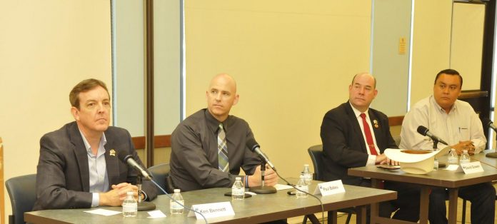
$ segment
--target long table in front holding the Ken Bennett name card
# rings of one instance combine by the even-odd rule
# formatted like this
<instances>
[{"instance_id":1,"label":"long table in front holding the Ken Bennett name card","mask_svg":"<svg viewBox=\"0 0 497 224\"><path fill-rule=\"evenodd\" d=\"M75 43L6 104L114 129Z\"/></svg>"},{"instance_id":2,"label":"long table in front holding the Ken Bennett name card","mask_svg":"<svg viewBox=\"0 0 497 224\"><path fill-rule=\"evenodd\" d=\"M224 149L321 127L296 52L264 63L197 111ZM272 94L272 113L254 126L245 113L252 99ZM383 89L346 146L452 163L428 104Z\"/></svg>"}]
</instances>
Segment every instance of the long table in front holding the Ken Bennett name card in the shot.
<instances>
[{"instance_id":1,"label":"long table in front holding the Ken Bennett name card","mask_svg":"<svg viewBox=\"0 0 497 224\"><path fill-rule=\"evenodd\" d=\"M296 180L296 179L294 179ZM311 183L310 191L316 188L316 181ZM321 198L325 211L332 211L331 223L336 223L336 210L341 208L358 208L357 223L366 222L366 205L380 203L397 198L396 191L375 188L363 188L353 185L343 185L346 192L333 195L316 195ZM224 196L230 188L210 188L193 190L181 193L187 206L204 203L231 202L235 215L221 218L209 218L209 223L263 223L271 220L281 220L301 215L321 213L321 204L311 196L296 198L288 195L288 190L278 190L277 193L267 195L254 195L245 200L231 201L231 197ZM187 217L188 211L182 215L169 213L169 198L159 195L153 203L156 209L166 214L166 218L147 218L146 211L139 211L134 218L124 218L123 215L94 215L85 213L86 209L39 210L24 213L24 220L28 223L205 223L203 219ZM121 207L105 207L108 210L120 211ZM318 217L321 215L318 215Z\"/></svg>"}]
</instances>

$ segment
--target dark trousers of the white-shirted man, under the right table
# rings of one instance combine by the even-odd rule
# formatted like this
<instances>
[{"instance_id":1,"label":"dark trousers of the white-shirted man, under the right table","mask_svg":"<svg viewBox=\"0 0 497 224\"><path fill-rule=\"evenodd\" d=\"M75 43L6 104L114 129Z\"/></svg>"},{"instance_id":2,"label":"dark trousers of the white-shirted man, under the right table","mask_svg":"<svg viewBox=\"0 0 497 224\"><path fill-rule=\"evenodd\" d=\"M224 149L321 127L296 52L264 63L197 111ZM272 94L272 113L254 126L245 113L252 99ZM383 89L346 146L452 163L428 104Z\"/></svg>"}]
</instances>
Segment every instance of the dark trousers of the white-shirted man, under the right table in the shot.
<instances>
[{"instance_id":1,"label":"dark trousers of the white-shirted man, under the right table","mask_svg":"<svg viewBox=\"0 0 497 224\"><path fill-rule=\"evenodd\" d=\"M492 183L479 183L459 188L460 198L471 202L471 223L492 224L495 218L496 189ZM448 223L446 218L446 200L448 190L433 188L430 194L428 220L432 224Z\"/></svg>"}]
</instances>

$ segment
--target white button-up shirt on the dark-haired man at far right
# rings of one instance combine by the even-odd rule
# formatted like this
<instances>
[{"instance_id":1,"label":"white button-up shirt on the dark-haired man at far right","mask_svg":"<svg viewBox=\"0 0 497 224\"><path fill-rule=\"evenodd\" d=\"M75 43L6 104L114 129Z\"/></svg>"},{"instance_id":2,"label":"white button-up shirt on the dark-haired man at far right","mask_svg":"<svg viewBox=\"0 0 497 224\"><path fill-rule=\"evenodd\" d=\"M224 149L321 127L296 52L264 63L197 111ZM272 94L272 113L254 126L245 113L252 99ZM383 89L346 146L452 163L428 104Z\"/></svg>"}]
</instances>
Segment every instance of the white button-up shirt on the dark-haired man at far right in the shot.
<instances>
[{"instance_id":1,"label":"white button-up shirt on the dark-haired man at far right","mask_svg":"<svg viewBox=\"0 0 497 224\"><path fill-rule=\"evenodd\" d=\"M449 113L436 103L433 96L416 103L404 117L399 148L424 150L433 148L433 141L417 132L418 126L425 126L433 135L451 146L459 141L471 140L475 146L475 153L480 153L485 148L486 138L480 118L471 105L464 101L456 100ZM444 144L438 143L437 148L445 147Z\"/></svg>"}]
</instances>

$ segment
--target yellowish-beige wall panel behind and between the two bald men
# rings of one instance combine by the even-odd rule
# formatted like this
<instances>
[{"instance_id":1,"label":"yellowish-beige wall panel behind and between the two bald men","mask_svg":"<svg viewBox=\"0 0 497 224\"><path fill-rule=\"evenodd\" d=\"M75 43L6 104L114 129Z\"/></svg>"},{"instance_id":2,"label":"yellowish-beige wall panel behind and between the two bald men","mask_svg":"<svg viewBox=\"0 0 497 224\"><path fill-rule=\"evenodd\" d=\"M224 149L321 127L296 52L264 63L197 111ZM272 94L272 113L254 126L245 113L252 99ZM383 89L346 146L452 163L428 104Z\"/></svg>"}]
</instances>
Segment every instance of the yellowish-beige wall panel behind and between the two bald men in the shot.
<instances>
[{"instance_id":1,"label":"yellowish-beige wall panel behind and between the two bald men","mask_svg":"<svg viewBox=\"0 0 497 224\"><path fill-rule=\"evenodd\" d=\"M238 82L231 113L251 125L283 177L311 163L324 113L368 71L368 1L186 1L186 115L206 107L216 73Z\"/></svg>"}]
</instances>

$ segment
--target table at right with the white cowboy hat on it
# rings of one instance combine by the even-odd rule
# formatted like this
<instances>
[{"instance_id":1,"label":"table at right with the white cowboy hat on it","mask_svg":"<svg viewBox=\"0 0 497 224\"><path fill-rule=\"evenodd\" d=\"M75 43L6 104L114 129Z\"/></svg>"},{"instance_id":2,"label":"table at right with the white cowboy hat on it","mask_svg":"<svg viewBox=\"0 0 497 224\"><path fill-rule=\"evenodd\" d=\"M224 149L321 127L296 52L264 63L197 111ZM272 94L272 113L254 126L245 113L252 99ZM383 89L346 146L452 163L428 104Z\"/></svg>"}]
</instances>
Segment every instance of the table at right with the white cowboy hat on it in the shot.
<instances>
[{"instance_id":1,"label":"table at right with the white cowboy hat on it","mask_svg":"<svg viewBox=\"0 0 497 224\"><path fill-rule=\"evenodd\" d=\"M485 156L483 153L476 157ZM483 160L483 158L481 158ZM493 158L490 158L493 159ZM441 163L447 163L447 156L438 158ZM471 156L471 162L476 161L474 156ZM497 163L495 163L497 164ZM391 180L404 183L414 183L421 186L420 199L420 219L419 223L428 223L428 201L430 189L433 187L448 188L448 223L456 223L457 216L457 198L458 188L473 185L477 183L491 182L497 180L497 168L489 166L487 163L481 163L483 173L465 174L462 171L445 170L438 168L429 173L411 174L405 173L402 170L384 170L376 168L376 166L366 166L360 168L348 169L348 175L355 175L363 178L371 178L371 185L377 188L381 180ZM371 223L407 223L405 221L389 220L387 218L378 217L378 203L371 205Z\"/></svg>"}]
</instances>

